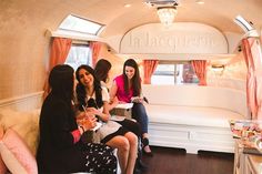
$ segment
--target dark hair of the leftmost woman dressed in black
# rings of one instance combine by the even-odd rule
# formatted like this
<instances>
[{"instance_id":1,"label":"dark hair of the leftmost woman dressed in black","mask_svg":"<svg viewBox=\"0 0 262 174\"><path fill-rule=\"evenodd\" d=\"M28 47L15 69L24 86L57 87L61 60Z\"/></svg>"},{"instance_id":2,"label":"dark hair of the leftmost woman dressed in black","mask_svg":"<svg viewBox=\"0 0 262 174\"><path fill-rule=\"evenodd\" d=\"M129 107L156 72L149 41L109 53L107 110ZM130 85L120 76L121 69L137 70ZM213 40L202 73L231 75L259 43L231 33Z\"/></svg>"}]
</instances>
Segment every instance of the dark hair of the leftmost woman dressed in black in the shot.
<instances>
[{"instance_id":1,"label":"dark hair of the leftmost woman dressed in black","mask_svg":"<svg viewBox=\"0 0 262 174\"><path fill-rule=\"evenodd\" d=\"M49 75L49 84L51 93L57 95L67 103L71 103L73 99L73 69L67 64L56 65Z\"/></svg>"}]
</instances>

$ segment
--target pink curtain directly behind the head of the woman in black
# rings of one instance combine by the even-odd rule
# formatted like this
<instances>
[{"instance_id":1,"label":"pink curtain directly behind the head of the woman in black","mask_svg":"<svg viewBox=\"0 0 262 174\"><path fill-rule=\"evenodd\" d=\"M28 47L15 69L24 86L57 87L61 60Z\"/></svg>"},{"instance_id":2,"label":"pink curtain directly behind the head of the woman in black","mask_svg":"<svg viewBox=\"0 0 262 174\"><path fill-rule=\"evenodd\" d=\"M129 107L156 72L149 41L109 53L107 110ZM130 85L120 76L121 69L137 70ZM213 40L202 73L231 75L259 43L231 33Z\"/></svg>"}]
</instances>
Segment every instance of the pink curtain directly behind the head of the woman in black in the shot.
<instances>
[{"instance_id":1,"label":"pink curtain directly behind the head of the woman in black","mask_svg":"<svg viewBox=\"0 0 262 174\"><path fill-rule=\"evenodd\" d=\"M46 81L43 85L43 99L46 99L50 92L50 86L48 82L49 72L52 70L54 65L64 63L68 53L71 49L71 45L72 45L71 39L66 39L66 38L53 39L50 52L49 68L47 71Z\"/></svg>"}]
</instances>

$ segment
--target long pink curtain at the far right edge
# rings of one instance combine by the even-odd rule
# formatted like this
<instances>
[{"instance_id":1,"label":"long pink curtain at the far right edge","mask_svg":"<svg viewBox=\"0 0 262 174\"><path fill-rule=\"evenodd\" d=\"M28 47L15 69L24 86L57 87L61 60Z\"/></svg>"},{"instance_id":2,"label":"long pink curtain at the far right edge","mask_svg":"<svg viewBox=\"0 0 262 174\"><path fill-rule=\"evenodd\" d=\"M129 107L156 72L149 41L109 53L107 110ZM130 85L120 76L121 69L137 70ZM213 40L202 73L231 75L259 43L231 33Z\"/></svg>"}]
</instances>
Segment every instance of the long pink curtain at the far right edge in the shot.
<instances>
[{"instance_id":1,"label":"long pink curtain at the far right edge","mask_svg":"<svg viewBox=\"0 0 262 174\"><path fill-rule=\"evenodd\" d=\"M252 119L262 119L262 55L260 41L256 38L242 40L244 60L248 68L246 75L246 102L252 113Z\"/></svg>"}]
</instances>

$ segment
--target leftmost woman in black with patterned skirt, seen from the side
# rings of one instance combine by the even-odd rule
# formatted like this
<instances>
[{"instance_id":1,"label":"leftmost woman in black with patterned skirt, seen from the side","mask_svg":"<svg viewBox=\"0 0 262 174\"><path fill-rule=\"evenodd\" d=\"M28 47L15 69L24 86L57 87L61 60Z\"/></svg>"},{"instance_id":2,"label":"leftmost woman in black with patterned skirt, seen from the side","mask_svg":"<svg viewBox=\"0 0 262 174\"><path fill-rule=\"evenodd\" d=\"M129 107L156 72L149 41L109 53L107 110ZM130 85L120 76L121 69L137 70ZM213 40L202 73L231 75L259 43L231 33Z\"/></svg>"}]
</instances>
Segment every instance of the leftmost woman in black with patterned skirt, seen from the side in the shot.
<instances>
[{"instance_id":1,"label":"leftmost woman in black with patterned skirt, seen from the side","mask_svg":"<svg viewBox=\"0 0 262 174\"><path fill-rule=\"evenodd\" d=\"M103 144L83 143L81 135L93 129L93 115L77 122L72 109L74 75L69 65L56 65L49 75L51 92L40 114L40 142L37 152L39 173L95 172L117 174L112 149ZM79 125L78 125L79 124Z\"/></svg>"}]
</instances>

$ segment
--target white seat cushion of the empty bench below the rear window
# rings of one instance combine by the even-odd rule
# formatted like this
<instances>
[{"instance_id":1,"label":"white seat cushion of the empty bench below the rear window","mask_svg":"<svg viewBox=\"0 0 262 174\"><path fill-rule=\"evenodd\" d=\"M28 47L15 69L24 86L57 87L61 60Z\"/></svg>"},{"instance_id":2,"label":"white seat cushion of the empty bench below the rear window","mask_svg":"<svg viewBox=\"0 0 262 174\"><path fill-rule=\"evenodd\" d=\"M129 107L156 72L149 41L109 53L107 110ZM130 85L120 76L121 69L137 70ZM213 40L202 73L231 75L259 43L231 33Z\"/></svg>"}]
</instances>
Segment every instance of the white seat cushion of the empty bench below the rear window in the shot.
<instances>
[{"instance_id":1,"label":"white seat cushion of the empty bench below the rear window","mask_svg":"<svg viewBox=\"0 0 262 174\"><path fill-rule=\"evenodd\" d=\"M150 123L184 124L229 127L229 120L243 120L243 115L215 108L145 104Z\"/></svg>"}]
</instances>

